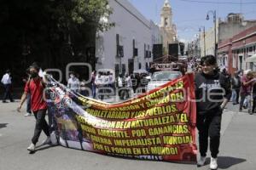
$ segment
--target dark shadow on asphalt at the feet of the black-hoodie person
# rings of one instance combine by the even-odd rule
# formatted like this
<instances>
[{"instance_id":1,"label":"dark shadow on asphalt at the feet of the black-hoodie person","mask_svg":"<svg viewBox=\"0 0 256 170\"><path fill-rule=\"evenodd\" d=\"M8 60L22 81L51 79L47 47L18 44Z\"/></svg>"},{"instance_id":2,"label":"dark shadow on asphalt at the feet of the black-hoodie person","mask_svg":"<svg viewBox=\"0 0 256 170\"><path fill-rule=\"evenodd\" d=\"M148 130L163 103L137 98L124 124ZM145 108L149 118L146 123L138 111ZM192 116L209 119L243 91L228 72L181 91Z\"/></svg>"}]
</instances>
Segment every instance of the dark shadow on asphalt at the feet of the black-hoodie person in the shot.
<instances>
[{"instance_id":1,"label":"dark shadow on asphalt at the feet of the black-hoodie person","mask_svg":"<svg viewBox=\"0 0 256 170\"><path fill-rule=\"evenodd\" d=\"M247 160L231 156L218 156L218 168L227 169L244 161ZM210 158L207 158L206 164L210 164Z\"/></svg>"}]
</instances>

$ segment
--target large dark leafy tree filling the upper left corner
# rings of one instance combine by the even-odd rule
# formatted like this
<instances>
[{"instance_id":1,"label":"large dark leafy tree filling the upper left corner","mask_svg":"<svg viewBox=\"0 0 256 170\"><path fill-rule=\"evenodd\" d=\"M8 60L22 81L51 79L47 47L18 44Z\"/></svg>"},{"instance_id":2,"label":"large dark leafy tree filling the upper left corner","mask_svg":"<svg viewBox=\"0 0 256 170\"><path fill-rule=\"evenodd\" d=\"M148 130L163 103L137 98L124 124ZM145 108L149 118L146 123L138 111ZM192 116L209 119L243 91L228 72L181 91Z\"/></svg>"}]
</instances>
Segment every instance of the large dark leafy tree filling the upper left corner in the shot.
<instances>
[{"instance_id":1,"label":"large dark leafy tree filling the upper left corner","mask_svg":"<svg viewBox=\"0 0 256 170\"><path fill-rule=\"evenodd\" d=\"M12 69L35 60L62 70L70 61L88 61L96 31L114 26L101 21L112 14L108 0L1 0L0 11L0 60Z\"/></svg>"}]
</instances>

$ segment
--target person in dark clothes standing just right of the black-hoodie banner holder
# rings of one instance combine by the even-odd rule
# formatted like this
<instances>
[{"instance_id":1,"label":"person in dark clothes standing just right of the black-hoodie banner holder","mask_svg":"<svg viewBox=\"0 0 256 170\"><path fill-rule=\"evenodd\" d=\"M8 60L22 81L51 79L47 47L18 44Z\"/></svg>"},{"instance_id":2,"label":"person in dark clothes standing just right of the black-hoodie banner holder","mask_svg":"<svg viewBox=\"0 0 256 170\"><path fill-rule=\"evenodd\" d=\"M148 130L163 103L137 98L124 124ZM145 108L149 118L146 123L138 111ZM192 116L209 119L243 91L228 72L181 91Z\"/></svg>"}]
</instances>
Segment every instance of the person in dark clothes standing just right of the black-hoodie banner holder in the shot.
<instances>
[{"instance_id":1,"label":"person in dark clothes standing just right of the black-hoodie banner holder","mask_svg":"<svg viewBox=\"0 0 256 170\"><path fill-rule=\"evenodd\" d=\"M239 77L239 72L236 71L234 77L231 78L231 88L232 88L232 102L233 105L239 104L241 80Z\"/></svg>"}]
</instances>

